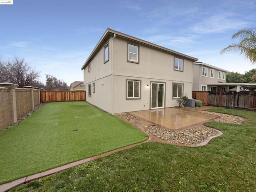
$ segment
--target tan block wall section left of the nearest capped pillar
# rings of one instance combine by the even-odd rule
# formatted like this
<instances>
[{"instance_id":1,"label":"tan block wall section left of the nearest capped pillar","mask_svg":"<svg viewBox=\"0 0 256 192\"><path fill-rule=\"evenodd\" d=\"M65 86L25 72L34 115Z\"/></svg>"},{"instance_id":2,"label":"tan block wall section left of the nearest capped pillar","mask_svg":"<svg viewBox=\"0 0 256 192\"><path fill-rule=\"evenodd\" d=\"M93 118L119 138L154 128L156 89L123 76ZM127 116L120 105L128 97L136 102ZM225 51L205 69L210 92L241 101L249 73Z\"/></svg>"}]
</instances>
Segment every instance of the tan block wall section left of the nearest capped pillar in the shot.
<instances>
[{"instance_id":1,"label":"tan block wall section left of the nearest capped pillar","mask_svg":"<svg viewBox=\"0 0 256 192\"><path fill-rule=\"evenodd\" d=\"M10 125L10 118L8 88L0 87L0 130Z\"/></svg>"}]
</instances>

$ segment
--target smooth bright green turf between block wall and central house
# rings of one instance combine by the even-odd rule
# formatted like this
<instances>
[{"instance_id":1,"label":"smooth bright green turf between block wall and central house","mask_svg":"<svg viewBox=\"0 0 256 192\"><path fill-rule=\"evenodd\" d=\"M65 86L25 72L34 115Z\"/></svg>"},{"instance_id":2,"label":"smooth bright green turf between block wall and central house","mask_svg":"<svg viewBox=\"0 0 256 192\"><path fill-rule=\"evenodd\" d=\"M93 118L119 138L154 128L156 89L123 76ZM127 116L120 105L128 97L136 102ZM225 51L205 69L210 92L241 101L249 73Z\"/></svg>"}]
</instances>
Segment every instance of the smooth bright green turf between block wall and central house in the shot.
<instances>
[{"instance_id":1,"label":"smooth bright green turf between block wall and central house","mask_svg":"<svg viewBox=\"0 0 256 192\"><path fill-rule=\"evenodd\" d=\"M87 102L48 103L0 131L0 184L147 138Z\"/></svg>"}]
</instances>

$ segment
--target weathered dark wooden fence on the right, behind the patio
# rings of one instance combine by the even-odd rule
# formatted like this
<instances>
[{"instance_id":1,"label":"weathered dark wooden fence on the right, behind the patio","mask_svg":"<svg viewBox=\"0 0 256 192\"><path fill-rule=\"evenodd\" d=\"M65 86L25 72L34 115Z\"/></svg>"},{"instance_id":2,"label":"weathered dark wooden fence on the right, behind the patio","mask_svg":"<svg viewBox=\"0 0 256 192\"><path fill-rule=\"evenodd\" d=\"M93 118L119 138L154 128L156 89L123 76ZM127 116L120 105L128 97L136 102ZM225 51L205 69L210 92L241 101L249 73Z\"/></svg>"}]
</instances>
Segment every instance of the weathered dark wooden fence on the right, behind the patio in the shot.
<instances>
[{"instance_id":1,"label":"weathered dark wooden fence on the right, behind the patio","mask_svg":"<svg viewBox=\"0 0 256 192\"><path fill-rule=\"evenodd\" d=\"M256 92L194 92L192 97L204 105L256 109Z\"/></svg>"}]
</instances>

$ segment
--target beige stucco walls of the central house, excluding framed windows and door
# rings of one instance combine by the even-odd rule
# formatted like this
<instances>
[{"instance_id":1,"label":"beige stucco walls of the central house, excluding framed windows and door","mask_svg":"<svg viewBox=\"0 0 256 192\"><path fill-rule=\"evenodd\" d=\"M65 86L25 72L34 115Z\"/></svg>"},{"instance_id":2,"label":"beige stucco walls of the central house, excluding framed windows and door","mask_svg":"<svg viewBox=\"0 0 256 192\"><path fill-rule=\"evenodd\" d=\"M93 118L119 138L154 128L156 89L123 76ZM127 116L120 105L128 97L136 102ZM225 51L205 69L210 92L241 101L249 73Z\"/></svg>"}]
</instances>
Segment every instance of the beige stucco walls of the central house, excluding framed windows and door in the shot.
<instances>
[{"instance_id":1,"label":"beige stucco walls of the central house, excluding framed windows and door","mask_svg":"<svg viewBox=\"0 0 256 192\"><path fill-rule=\"evenodd\" d=\"M177 97L172 97L173 84L181 84L182 93L192 98L192 60L130 39L112 38L104 41L84 69L87 102L109 113L148 110L151 82L164 84L164 107L178 105ZM107 43L109 60L104 62ZM128 61L128 44L138 46L139 62ZM183 70L174 70L174 57L183 59ZM140 81L140 98L127 99L127 80Z\"/></svg>"}]
</instances>

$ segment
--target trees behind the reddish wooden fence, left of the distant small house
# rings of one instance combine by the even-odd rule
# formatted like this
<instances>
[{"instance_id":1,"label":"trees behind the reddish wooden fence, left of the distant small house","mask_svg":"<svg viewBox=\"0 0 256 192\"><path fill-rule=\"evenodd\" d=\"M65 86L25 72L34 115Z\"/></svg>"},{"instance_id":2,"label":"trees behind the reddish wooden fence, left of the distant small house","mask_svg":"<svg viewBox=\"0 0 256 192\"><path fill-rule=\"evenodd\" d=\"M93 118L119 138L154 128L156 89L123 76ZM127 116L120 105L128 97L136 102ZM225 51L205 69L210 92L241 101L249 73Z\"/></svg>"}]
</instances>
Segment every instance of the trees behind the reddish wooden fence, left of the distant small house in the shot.
<instances>
[{"instance_id":1,"label":"trees behind the reddish wooden fence, left of the distant small house","mask_svg":"<svg viewBox=\"0 0 256 192\"><path fill-rule=\"evenodd\" d=\"M46 90L69 90L68 84L52 75L46 74Z\"/></svg>"}]
</instances>

